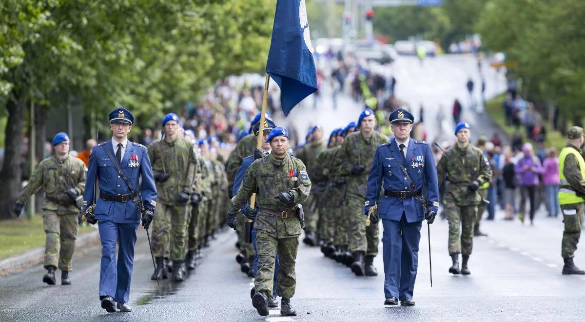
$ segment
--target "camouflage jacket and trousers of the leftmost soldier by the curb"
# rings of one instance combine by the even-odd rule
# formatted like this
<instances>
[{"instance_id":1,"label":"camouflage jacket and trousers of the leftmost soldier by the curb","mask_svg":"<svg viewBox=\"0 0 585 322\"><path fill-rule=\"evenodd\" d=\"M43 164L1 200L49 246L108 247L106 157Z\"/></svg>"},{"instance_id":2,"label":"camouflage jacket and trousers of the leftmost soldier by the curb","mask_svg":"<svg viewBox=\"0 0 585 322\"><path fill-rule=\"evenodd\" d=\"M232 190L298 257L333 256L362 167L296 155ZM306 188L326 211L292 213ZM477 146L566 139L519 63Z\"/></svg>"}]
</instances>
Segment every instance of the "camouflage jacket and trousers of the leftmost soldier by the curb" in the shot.
<instances>
[{"instance_id":1,"label":"camouflage jacket and trousers of the leftmost soldier by the curb","mask_svg":"<svg viewBox=\"0 0 585 322\"><path fill-rule=\"evenodd\" d=\"M71 257L75 250L75 238L79 227L77 215L80 209L64 190L75 188L82 196L85 190L85 163L77 157L68 155L59 160L56 156L47 157L36 167L29 183L18 197L18 204L26 200L43 187L46 197L43 201L43 228L47 234L44 247L43 266L55 266L63 271L70 271ZM59 249L59 265L57 250Z\"/></svg>"}]
</instances>

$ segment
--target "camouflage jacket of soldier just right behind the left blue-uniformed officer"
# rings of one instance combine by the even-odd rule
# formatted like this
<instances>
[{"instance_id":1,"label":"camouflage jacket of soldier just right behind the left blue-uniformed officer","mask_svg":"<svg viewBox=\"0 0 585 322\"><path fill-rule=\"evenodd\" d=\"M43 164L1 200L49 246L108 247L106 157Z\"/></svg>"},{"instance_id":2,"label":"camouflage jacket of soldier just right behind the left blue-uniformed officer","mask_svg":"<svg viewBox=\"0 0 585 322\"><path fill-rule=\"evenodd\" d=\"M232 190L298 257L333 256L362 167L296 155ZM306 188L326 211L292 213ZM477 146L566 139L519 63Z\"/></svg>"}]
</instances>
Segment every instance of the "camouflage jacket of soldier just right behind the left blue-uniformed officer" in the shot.
<instances>
[{"instance_id":1,"label":"camouflage jacket of soldier just right behind the left blue-uniformed officer","mask_svg":"<svg viewBox=\"0 0 585 322\"><path fill-rule=\"evenodd\" d=\"M156 182L157 201L177 205L178 194L191 193L197 173L197 160L190 141L177 138L173 142L156 140L148 146L153 173L164 172L170 175L164 182Z\"/></svg>"}]
</instances>

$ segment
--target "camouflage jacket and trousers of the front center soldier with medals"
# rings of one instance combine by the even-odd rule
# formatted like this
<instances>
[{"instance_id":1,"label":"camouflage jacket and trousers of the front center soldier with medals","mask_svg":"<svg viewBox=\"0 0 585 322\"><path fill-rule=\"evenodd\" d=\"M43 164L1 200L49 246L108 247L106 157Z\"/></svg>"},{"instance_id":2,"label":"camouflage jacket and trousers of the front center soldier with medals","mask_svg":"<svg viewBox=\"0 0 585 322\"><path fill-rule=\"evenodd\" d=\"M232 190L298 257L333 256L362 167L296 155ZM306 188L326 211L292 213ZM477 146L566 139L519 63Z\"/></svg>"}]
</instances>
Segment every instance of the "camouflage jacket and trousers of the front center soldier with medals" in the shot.
<instances>
[{"instance_id":1,"label":"camouflage jacket and trousers of the front center soldier with medals","mask_svg":"<svg viewBox=\"0 0 585 322\"><path fill-rule=\"evenodd\" d=\"M297 170L297 181L291 180L289 170ZM258 272L254 279L256 292L265 292L269 298L272 296L274 259L278 252L280 270L277 293L290 299L296 286L295 259L298 237L302 233L301 223L297 217L281 218L264 210L292 213L294 207L288 207L274 198L286 191L293 191L295 204L307 200L311 181L305 165L288 154L283 160L276 159L270 153L269 156L254 161L246 172L238 194L232 198L228 213L233 214L240 210L249 202L254 191L257 191L256 204L260 208L254 221L258 251Z\"/></svg>"}]
</instances>

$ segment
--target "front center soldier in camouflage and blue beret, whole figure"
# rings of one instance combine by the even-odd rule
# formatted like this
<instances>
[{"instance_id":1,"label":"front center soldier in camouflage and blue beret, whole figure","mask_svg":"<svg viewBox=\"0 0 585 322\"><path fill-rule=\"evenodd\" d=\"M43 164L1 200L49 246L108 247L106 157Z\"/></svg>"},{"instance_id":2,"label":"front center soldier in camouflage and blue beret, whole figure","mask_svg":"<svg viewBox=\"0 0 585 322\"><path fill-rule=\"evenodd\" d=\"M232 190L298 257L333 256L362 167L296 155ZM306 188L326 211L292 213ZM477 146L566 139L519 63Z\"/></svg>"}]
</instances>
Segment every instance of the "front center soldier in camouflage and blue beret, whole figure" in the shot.
<instances>
[{"instance_id":1,"label":"front center soldier in camouflage and blue beret, whole figure","mask_svg":"<svg viewBox=\"0 0 585 322\"><path fill-rule=\"evenodd\" d=\"M266 142L270 142L270 155L254 161L248 168L242 186L232 198L227 222L229 227L236 227L238 211L256 192L259 211L256 215L249 214L254 218L259 265L254 279L256 294L252 304L261 316L269 314L267 304L272 297L274 258L278 251L280 270L277 293L282 297L280 314L296 316L290 299L295 291L295 259L298 238L302 233L301 222L304 221L298 204L307 200L311 180L302 161L288 154L286 129L274 128Z\"/></svg>"}]
</instances>

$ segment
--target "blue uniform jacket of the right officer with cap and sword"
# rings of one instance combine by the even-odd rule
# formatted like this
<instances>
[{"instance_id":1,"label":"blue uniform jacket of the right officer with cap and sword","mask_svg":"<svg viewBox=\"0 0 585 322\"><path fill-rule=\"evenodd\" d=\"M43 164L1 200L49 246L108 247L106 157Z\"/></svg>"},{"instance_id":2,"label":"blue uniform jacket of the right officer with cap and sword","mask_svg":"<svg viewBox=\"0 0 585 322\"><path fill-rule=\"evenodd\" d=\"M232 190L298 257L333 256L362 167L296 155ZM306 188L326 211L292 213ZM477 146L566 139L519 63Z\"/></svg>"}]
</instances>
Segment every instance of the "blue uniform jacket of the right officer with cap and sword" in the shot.
<instances>
[{"instance_id":1,"label":"blue uniform jacket of the right officer with cap and sword","mask_svg":"<svg viewBox=\"0 0 585 322\"><path fill-rule=\"evenodd\" d=\"M414 182L416 189L422 190L422 196L428 197L429 209L438 211L439 187L437 185L437 172L435 157L428 143L411 139L404 162L397 143L391 140L388 143L378 145L376 154L371 163L370 176L367 180L366 203L364 213L377 203L380 189L392 191L411 191L411 185L402 174L398 162ZM413 167L414 165L414 167ZM424 181L426 180L426 187ZM422 204L415 198L396 198L381 196L378 204L380 218L400 221L402 213L406 215L408 222L422 221L425 218Z\"/></svg>"}]
</instances>

